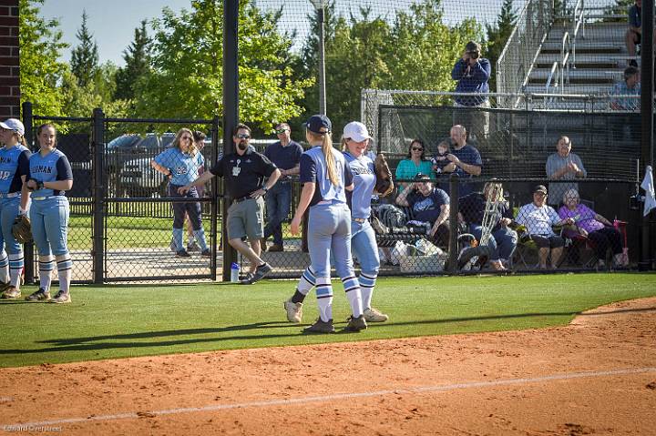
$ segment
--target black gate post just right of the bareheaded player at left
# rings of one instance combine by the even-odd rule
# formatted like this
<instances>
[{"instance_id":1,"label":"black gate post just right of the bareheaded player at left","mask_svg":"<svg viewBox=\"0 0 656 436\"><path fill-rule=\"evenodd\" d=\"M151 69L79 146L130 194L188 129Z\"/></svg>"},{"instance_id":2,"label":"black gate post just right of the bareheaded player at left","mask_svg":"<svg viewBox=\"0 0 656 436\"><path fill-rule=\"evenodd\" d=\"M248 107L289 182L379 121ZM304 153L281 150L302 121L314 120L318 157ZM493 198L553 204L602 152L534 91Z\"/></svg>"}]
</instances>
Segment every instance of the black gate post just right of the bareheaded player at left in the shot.
<instances>
[{"instance_id":1,"label":"black gate post just right of the bareheaded player at left","mask_svg":"<svg viewBox=\"0 0 656 436\"><path fill-rule=\"evenodd\" d=\"M103 283L105 279L105 114L96 107L93 112L93 282Z\"/></svg>"}]
</instances>

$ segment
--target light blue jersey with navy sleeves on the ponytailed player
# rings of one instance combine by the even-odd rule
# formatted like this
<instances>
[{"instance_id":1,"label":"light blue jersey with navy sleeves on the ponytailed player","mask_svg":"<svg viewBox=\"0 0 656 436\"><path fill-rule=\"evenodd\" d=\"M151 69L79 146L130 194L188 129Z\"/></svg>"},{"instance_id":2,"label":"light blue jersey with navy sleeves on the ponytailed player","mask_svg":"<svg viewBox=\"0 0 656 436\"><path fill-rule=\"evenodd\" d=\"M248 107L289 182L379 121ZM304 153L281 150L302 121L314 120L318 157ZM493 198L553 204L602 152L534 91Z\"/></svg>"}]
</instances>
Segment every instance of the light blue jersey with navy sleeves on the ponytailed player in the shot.
<instances>
[{"instance_id":1,"label":"light blue jersey with navy sleeves on the ponytailed player","mask_svg":"<svg viewBox=\"0 0 656 436\"><path fill-rule=\"evenodd\" d=\"M331 148L337 171L337 186L333 185L328 177L328 167L321 146L313 147L301 156L301 183L314 183L314 196L310 201L310 206L314 206L320 201L338 201L346 203L346 194L344 187L353 184L353 173L351 167L346 164L343 154Z\"/></svg>"}]
</instances>

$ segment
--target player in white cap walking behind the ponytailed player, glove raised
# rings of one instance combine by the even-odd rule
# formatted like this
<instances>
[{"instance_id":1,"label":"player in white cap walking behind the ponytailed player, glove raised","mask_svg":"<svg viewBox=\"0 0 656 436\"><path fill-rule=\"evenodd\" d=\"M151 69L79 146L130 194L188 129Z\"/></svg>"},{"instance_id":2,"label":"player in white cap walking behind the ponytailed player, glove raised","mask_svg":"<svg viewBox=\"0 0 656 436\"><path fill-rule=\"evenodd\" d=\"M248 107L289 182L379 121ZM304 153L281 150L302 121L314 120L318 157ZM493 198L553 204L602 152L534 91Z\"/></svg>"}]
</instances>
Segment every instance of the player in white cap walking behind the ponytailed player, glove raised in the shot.
<instances>
[{"instance_id":1,"label":"player in white cap walking behind the ponytailed player, glove raised","mask_svg":"<svg viewBox=\"0 0 656 436\"><path fill-rule=\"evenodd\" d=\"M358 282L362 292L364 319L367 322L384 322L387 315L374 309L371 305L372 294L380 259L375 241L374 228L369 223L371 215L371 199L375 188L374 162L365 155L369 144L369 132L364 124L354 121L343 129L342 146L343 156L351 167L354 177L354 190L346 194L351 206L351 248L355 257L360 261L360 276ZM303 273L302 280L311 285L316 282L312 269ZM301 322L302 302L286 301L287 319L292 322Z\"/></svg>"}]
</instances>

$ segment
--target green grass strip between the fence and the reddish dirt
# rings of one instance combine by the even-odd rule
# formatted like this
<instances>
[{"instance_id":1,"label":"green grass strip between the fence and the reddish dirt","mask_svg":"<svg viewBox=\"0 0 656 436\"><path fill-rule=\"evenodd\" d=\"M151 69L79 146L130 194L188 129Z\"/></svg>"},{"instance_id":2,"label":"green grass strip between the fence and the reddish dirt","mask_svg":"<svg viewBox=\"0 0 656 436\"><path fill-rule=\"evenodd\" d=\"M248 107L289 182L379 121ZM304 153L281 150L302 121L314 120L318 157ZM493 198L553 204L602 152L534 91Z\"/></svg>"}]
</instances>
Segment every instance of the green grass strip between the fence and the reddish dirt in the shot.
<instances>
[{"instance_id":1,"label":"green grass strip between the fence and the reddish dirt","mask_svg":"<svg viewBox=\"0 0 656 436\"><path fill-rule=\"evenodd\" d=\"M349 314L335 283L336 328ZM333 341L380 340L566 325L612 301L656 296L656 274L379 279L374 306L390 315L361 333L305 336L285 319L295 281L75 287L73 303L0 303L0 367ZM34 291L23 289L23 295ZM312 293L304 323L317 316Z\"/></svg>"}]
</instances>

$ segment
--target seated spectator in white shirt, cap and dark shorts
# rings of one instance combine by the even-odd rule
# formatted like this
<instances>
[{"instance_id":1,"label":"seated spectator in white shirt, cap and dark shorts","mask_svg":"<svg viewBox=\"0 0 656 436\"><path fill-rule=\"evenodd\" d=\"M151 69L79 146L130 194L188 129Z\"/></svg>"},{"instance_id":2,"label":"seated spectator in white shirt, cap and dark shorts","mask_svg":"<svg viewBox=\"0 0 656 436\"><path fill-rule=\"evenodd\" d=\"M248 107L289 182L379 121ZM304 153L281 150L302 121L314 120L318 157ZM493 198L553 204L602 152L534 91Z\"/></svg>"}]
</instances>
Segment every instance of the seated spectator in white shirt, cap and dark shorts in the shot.
<instances>
[{"instance_id":1,"label":"seated spectator in white shirt, cap and dark shorts","mask_svg":"<svg viewBox=\"0 0 656 436\"><path fill-rule=\"evenodd\" d=\"M528 235L538 246L539 268L547 269L550 255L551 269L557 269L565 240L557 236L551 226L570 225L574 219L561 219L554 208L547 206L547 188L544 185L533 189L533 202L519 208L515 221L527 228Z\"/></svg>"}]
</instances>

